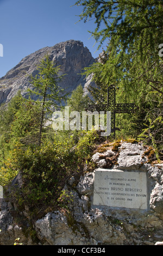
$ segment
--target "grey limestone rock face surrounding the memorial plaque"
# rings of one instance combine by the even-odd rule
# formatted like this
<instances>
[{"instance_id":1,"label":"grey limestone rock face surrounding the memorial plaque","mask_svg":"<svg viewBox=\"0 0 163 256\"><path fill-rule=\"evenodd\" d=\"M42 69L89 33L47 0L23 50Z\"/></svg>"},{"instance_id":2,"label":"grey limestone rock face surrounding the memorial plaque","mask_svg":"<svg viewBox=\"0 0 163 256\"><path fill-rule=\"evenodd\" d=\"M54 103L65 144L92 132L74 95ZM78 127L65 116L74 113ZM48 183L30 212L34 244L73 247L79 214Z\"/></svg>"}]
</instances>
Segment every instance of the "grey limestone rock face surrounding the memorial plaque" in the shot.
<instances>
[{"instance_id":1,"label":"grey limestone rock face surrounding the memorial plaque","mask_svg":"<svg viewBox=\"0 0 163 256\"><path fill-rule=\"evenodd\" d=\"M140 170L147 173L149 188L149 208L147 210L110 208L93 205L93 187L95 171L81 175L78 182L74 176L68 180L64 189L72 195L67 199L66 210L48 212L33 223L33 228L41 245L159 245L163 240L163 168L158 164L150 164L142 158L146 148L142 144L122 142L117 159L118 166L134 172ZM100 153L103 157L112 157L116 153L108 151ZM92 156L92 161L99 162L99 154ZM19 180L18 177L12 184ZM24 236L22 227L14 222L11 214L12 205L0 201L0 245L12 245L14 239L21 237L24 245L32 245L33 241ZM13 210L13 209L12 209ZM29 209L20 213L26 219ZM28 229L28 225L26 225Z\"/></svg>"}]
</instances>

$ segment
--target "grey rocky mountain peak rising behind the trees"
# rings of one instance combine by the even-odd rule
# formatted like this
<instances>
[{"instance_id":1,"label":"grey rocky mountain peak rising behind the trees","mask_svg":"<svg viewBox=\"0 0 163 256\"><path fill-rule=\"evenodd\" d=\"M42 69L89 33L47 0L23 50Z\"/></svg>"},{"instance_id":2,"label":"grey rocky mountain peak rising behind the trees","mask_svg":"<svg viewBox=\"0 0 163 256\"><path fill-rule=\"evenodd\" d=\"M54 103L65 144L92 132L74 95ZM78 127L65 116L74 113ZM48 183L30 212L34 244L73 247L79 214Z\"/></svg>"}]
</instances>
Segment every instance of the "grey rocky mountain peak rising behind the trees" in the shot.
<instances>
[{"instance_id":1,"label":"grey rocky mountain peak rising behind the trees","mask_svg":"<svg viewBox=\"0 0 163 256\"><path fill-rule=\"evenodd\" d=\"M18 90L21 90L22 95L26 96L25 91L30 87L27 74L33 76L37 74L37 66L47 53L57 66L60 65L59 75L66 74L65 79L60 82L62 88L66 88L67 92L72 92L79 84L85 86L84 77L80 74L86 66L93 64L95 59L89 49L84 47L83 42L68 40L29 54L9 70L5 76L1 77L0 104L10 101Z\"/></svg>"}]
</instances>

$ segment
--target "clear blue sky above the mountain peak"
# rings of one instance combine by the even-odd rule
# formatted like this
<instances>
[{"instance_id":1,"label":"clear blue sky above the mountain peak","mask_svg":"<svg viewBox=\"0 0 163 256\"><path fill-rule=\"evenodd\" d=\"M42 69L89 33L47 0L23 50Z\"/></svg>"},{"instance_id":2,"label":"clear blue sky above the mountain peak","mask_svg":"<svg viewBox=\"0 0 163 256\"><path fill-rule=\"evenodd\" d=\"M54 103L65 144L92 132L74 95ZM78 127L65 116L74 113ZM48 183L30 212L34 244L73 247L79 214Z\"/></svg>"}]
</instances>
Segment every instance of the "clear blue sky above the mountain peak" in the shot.
<instances>
[{"instance_id":1,"label":"clear blue sky above the mountain peak","mask_svg":"<svg viewBox=\"0 0 163 256\"><path fill-rule=\"evenodd\" d=\"M76 0L0 0L0 77L22 58L58 42L80 40L96 58L95 40L90 33L93 21L77 22L82 7L71 7ZM77 22L77 23L76 23ZM1 55L1 54L0 54Z\"/></svg>"}]
</instances>

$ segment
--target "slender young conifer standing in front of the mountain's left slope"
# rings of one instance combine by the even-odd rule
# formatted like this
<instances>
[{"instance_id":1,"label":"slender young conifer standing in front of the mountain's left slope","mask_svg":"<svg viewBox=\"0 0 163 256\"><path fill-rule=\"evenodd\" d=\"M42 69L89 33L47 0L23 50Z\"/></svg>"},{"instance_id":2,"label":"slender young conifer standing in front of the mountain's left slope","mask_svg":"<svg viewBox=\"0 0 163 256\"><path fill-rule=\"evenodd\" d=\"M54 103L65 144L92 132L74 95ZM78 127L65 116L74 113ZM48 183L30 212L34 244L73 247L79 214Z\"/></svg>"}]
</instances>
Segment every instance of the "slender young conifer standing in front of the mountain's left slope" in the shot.
<instances>
[{"instance_id":1,"label":"slender young conifer standing in front of the mountain's left slope","mask_svg":"<svg viewBox=\"0 0 163 256\"><path fill-rule=\"evenodd\" d=\"M37 97L35 102L40 107L40 129L39 129L39 145L41 145L42 131L45 120L48 120L55 109L62 106L62 101L66 99L65 90L61 88L58 83L63 78L63 75L59 76L59 66L55 66L53 61L50 60L47 55L45 59L42 59L37 70L39 74L33 77L30 76L30 82L33 85L33 89L28 89L30 95ZM29 99L29 102L32 100Z\"/></svg>"}]
</instances>

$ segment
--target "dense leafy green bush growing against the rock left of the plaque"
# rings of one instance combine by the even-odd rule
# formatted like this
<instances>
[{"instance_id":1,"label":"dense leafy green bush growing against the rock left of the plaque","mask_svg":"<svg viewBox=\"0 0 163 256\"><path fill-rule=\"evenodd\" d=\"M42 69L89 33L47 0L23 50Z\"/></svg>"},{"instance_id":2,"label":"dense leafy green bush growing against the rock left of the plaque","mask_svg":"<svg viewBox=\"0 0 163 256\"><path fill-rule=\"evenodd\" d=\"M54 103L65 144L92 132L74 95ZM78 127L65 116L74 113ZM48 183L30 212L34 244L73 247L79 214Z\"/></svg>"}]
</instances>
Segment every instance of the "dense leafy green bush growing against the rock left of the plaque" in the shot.
<instances>
[{"instance_id":1,"label":"dense leafy green bush growing against the rock left of the plaque","mask_svg":"<svg viewBox=\"0 0 163 256\"><path fill-rule=\"evenodd\" d=\"M14 196L18 204L36 208L41 205L44 208L48 204L56 206L64 204L65 200L72 200L71 195L67 196L63 191L65 182L82 170L85 157L91 154L96 138L95 131L84 132L75 149L73 137L70 136L62 142L47 141L40 147L26 148L17 144L5 171L8 174L23 174L20 194Z\"/></svg>"}]
</instances>

